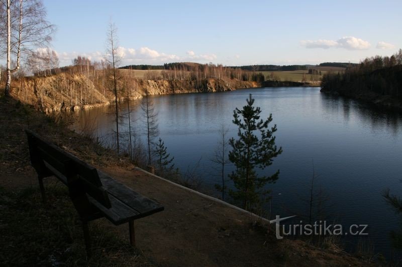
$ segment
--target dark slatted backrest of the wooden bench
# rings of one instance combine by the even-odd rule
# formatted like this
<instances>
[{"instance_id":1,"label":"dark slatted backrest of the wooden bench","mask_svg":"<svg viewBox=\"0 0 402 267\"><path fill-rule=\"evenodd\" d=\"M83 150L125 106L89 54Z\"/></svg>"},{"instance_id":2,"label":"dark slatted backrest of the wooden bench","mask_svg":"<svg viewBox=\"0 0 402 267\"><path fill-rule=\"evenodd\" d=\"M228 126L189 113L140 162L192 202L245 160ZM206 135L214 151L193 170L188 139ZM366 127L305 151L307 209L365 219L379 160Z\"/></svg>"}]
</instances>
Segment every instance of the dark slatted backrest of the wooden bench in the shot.
<instances>
[{"instance_id":1,"label":"dark slatted backrest of the wooden bench","mask_svg":"<svg viewBox=\"0 0 402 267\"><path fill-rule=\"evenodd\" d=\"M31 130L25 130L28 137L29 152L32 166L41 177L55 175L70 190L70 195L86 193L106 208L111 207L110 199L97 170L65 152L59 147L47 142Z\"/></svg>"}]
</instances>

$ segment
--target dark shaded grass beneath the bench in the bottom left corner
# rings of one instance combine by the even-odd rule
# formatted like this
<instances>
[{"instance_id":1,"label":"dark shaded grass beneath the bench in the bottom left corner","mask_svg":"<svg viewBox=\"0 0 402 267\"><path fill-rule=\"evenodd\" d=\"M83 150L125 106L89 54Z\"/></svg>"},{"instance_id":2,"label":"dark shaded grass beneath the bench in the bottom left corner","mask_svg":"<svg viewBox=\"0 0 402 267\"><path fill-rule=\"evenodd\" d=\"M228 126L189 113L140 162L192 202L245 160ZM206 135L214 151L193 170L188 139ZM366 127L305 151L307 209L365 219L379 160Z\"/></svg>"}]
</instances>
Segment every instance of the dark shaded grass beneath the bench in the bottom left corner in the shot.
<instances>
[{"instance_id":1,"label":"dark shaded grass beneath the bench in the bottom left corner","mask_svg":"<svg viewBox=\"0 0 402 267\"><path fill-rule=\"evenodd\" d=\"M97 221L89 223L92 257L87 259L82 224L63 187L46 189L48 205L38 188L11 192L0 188L0 262L11 265L149 266L145 258Z\"/></svg>"}]
</instances>

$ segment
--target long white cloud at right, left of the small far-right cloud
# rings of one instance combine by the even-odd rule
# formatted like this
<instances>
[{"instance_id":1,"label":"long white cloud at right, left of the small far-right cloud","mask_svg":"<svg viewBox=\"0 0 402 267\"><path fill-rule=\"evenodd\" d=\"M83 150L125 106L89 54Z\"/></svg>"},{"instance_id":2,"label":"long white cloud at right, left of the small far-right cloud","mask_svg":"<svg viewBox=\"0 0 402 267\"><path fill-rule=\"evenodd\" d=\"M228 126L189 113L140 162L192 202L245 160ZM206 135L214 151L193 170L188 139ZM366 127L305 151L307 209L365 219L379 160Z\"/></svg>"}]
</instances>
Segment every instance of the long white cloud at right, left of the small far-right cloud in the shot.
<instances>
[{"instance_id":1,"label":"long white cloud at right, left of the small far-right cloud","mask_svg":"<svg viewBox=\"0 0 402 267\"><path fill-rule=\"evenodd\" d=\"M301 41L300 44L306 48L344 48L348 50L369 49L370 43L356 37L342 37L338 40L316 40Z\"/></svg>"}]
</instances>

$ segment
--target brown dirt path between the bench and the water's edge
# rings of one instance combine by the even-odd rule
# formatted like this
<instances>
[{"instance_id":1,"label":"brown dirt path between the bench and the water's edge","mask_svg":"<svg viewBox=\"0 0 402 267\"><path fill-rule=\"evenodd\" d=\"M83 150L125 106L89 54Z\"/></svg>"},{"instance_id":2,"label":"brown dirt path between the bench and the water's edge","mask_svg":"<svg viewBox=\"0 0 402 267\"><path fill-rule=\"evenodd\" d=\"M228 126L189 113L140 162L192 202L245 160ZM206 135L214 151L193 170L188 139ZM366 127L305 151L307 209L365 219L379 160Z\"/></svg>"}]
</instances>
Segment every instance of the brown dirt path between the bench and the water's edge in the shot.
<instances>
[{"instance_id":1,"label":"brown dirt path between the bench and the water's edge","mask_svg":"<svg viewBox=\"0 0 402 267\"><path fill-rule=\"evenodd\" d=\"M163 266L358 266L341 251L320 250L303 241L278 241L255 217L138 169L105 172L165 210L136 221L137 246ZM127 226L119 233L128 238Z\"/></svg>"}]
</instances>

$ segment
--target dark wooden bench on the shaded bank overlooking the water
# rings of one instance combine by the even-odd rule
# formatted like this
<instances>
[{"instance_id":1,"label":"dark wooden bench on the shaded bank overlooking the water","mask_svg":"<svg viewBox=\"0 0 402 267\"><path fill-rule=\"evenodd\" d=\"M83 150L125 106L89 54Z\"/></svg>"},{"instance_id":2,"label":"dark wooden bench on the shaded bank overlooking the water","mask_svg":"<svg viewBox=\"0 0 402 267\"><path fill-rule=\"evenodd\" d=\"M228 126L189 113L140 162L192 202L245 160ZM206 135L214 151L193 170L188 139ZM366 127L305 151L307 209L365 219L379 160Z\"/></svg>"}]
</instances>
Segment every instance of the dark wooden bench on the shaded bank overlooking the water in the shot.
<instances>
[{"instance_id":1,"label":"dark wooden bench on the shaded bank overlooking the water","mask_svg":"<svg viewBox=\"0 0 402 267\"><path fill-rule=\"evenodd\" d=\"M88 222L106 217L115 225L129 223L130 243L135 246L134 220L162 211L162 205L146 198L77 157L25 130L32 166L38 173L46 203L43 178L56 176L67 185L70 198L83 224L87 255L90 256Z\"/></svg>"}]
</instances>

